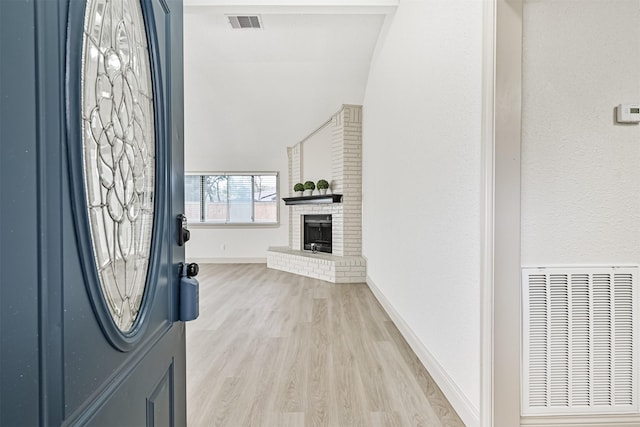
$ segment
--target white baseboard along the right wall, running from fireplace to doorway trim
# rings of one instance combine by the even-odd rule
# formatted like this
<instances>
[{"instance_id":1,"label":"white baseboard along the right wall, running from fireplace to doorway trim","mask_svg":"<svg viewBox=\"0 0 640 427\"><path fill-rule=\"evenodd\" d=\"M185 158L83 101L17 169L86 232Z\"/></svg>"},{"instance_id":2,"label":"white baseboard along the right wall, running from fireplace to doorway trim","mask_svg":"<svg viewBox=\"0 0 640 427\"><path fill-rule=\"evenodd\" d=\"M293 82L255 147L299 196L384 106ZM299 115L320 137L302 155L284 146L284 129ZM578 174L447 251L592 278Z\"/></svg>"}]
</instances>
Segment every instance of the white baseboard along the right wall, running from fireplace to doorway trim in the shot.
<instances>
[{"instance_id":1,"label":"white baseboard along the right wall, running from fireplace to doorway trim","mask_svg":"<svg viewBox=\"0 0 640 427\"><path fill-rule=\"evenodd\" d=\"M407 325L391 302L384 296L371 277L367 276L366 281L373 295L378 299L411 349L416 353L422 365L429 372L436 384L438 384L438 387L440 387L440 390L442 390L442 393L444 393L451 406L456 410L462 422L464 422L467 427L480 426L480 413L478 409L467 399L462 390L460 390L453 379L451 379L444 368L438 363L435 357L433 357L431 352L427 350L425 345L413 333L409 325Z\"/></svg>"}]
</instances>

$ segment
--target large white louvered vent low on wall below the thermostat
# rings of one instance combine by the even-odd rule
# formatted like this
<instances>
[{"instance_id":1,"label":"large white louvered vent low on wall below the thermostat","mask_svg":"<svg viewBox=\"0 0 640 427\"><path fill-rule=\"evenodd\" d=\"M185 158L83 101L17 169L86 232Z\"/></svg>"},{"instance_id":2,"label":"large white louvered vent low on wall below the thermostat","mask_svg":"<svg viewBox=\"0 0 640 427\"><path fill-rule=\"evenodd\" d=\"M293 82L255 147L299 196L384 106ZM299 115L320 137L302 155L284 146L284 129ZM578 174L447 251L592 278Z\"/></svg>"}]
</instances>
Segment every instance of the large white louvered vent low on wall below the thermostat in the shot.
<instances>
[{"instance_id":1,"label":"large white louvered vent low on wall below the thermostat","mask_svg":"<svg viewBox=\"0 0 640 427\"><path fill-rule=\"evenodd\" d=\"M638 412L637 283L637 267L522 270L522 415Z\"/></svg>"}]
</instances>

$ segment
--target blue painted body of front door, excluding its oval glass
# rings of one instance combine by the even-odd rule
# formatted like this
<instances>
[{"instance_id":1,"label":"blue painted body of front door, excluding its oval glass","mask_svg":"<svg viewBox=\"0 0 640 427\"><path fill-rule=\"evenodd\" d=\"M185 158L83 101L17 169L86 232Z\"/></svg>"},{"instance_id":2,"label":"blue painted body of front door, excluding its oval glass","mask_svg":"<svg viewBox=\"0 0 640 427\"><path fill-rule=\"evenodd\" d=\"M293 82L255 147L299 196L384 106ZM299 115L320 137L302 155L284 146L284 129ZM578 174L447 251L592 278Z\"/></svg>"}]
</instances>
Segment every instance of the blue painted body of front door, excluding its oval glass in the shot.
<instances>
[{"instance_id":1,"label":"blue painted body of front door, excluding its oval glass","mask_svg":"<svg viewBox=\"0 0 640 427\"><path fill-rule=\"evenodd\" d=\"M142 1L156 98L155 271L144 327L120 337L124 344L109 336L90 291L96 271L78 167L84 8L0 1L0 425L185 425L184 249L174 220L183 191L182 4Z\"/></svg>"}]
</instances>

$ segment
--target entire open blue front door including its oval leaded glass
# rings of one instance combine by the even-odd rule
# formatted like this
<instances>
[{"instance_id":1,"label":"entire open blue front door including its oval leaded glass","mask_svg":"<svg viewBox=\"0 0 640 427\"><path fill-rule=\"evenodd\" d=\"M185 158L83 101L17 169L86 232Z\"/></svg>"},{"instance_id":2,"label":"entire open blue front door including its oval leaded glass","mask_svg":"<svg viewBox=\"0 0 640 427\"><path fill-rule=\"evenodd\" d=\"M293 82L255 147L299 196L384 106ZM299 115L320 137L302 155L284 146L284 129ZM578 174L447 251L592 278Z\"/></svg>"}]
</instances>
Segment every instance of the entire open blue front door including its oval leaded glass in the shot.
<instances>
[{"instance_id":1,"label":"entire open blue front door including its oval leaded glass","mask_svg":"<svg viewBox=\"0 0 640 427\"><path fill-rule=\"evenodd\" d=\"M181 0L0 1L0 425L185 425Z\"/></svg>"}]
</instances>

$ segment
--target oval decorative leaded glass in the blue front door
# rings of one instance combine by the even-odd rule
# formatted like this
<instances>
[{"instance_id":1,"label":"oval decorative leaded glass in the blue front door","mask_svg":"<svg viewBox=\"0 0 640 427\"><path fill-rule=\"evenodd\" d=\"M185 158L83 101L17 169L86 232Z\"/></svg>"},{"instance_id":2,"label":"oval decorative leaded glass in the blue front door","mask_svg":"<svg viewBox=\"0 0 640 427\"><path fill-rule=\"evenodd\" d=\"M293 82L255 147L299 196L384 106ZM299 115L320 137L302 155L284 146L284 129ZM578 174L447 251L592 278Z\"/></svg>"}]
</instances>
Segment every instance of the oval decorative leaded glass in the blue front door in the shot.
<instances>
[{"instance_id":1,"label":"oval decorative leaded glass in the blue front door","mask_svg":"<svg viewBox=\"0 0 640 427\"><path fill-rule=\"evenodd\" d=\"M138 0L88 0L83 35L83 165L93 253L118 328L144 295L154 216L155 130Z\"/></svg>"}]
</instances>

